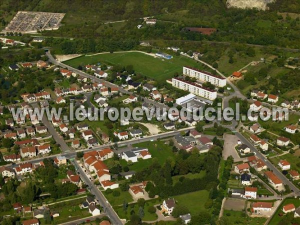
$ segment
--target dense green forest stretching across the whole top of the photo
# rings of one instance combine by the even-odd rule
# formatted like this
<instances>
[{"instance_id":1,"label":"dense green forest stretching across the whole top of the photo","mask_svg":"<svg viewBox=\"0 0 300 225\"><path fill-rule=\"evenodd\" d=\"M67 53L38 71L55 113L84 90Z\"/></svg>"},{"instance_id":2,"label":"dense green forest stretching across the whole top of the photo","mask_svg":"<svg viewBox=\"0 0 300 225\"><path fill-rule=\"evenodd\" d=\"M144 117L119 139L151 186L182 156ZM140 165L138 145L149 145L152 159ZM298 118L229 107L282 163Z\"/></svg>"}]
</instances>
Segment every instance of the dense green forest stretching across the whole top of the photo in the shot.
<instances>
[{"instance_id":1,"label":"dense green forest stretching across the whole top of the photo","mask_svg":"<svg viewBox=\"0 0 300 225\"><path fill-rule=\"evenodd\" d=\"M201 1L5 1L1 3L1 26L17 10L66 12L58 30L42 31L44 35L84 37L95 40L93 47L127 49L138 40L209 40L300 48L300 1L275 1L269 10L226 8L225 0ZM282 12L282 13L280 13ZM287 14L286 12L290 12ZM154 26L143 26L143 16L159 19ZM127 19L103 24L105 21ZM169 22L168 22L169 21ZM185 26L215 27L210 36L182 31ZM79 42L63 43L64 53L73 53ZM72 46L71 46L72 45ZM121 47L118 47L121 45ZM124 46L123 46L124 45ZM81 48L86 46L82 41ZM91 47L93 49L93 47ZM81 51L80 51L81 52Z\"/></svg>"}]
</instances>

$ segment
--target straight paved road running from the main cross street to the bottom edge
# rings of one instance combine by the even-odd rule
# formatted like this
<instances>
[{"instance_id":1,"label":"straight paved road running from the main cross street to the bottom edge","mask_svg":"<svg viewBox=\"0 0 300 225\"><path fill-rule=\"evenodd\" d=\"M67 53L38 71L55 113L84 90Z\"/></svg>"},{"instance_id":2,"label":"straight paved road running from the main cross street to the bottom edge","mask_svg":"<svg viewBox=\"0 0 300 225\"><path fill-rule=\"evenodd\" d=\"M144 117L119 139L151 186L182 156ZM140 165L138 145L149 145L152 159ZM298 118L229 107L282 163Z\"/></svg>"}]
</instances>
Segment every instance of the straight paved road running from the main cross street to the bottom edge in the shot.
<instances>
[{"instance_id":1,"label":"straight paved road running from the main cross street to the bottom edge","mask_svg":"<svg viewBox=\"0 0 300 225\"><path fill-rule=\"evenodd\" d=\"M76 160L72 160L72 163L74 164L76 171L79 172L80 178L85 182L85 184L88 185L90 189L90 193L95 195L95 198L98 200L99 204L103 207L104 212L108 215L108 217L111 220L112 224L123 224L119 217L117 216L116 212L113 210L105 196L102 194L102 192L96 187L96 185L89 180L85 172L82 170L82 168L79 166L78 162ZM108 203L107 203L108 202Z\"/></svg>"}]
</instances>

